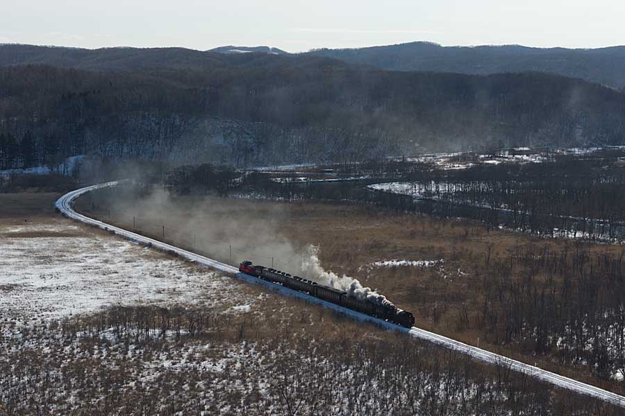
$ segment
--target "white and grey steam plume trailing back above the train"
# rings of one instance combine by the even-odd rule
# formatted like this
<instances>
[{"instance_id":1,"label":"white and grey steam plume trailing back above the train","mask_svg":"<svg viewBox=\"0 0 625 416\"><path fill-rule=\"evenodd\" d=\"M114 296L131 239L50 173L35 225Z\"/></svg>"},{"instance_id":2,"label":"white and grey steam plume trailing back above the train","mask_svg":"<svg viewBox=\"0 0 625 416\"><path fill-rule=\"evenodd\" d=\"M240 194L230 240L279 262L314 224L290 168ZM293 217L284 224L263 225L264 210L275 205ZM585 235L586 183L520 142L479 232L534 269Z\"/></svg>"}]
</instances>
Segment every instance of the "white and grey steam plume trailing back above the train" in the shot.
<instances>
[{"instance_id":1,"label":"white and grey steam plume trailing back above the train","mask_svg":"<svg viewBox=\"0 0 625 416\"><path fill-rule=\"evenodd\" d=\"M159 187L147 195L140 191L131 188L113 196L117 218L131 221L140 232L160 234L164 225L170 241L191 245L219 261L238 264L249 260L266 267L275 261L274 267L284 272L299 274L360 300L393 306L385 296L364 287L357 279L324 270L319 262L319 248L298 244L283 235L275 220L285 215L281 205L251 205L197 196L181 198Z\"/></svg>"}]
</instances>

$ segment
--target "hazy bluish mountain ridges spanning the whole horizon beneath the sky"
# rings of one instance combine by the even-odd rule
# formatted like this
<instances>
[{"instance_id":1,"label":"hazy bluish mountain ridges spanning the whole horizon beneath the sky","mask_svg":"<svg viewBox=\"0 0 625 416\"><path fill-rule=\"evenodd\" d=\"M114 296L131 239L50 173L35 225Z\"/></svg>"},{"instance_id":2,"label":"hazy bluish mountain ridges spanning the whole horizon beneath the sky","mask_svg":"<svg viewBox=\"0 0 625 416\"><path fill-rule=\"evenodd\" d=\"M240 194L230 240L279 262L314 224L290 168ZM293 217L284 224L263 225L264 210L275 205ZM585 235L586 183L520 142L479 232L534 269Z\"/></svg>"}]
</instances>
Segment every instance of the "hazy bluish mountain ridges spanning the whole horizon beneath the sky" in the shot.
<instances>
[{"instance_id":1,"label":"hazy bluish mountain ridges spanning the whole horizon beneath the sky","mask_svg":"<svg viewBox=\"0 0 625 416\"><path fill-rule=\"evenodd\" d=\"M274 65L306 67L319 62L339 67L355 64L387 71L468 75L543 72L581 78L619 91L625 89L625 46L541 49L519 45L469 47L412 42L360 49L314 49L306 53L288 53L271 46L220 46L209 51L196 51L173 47L78 49L0 44L0 67L44 64L91 71L136 71Z\"/></svg>"}]
</instances>

